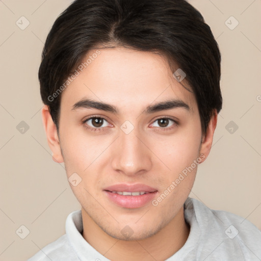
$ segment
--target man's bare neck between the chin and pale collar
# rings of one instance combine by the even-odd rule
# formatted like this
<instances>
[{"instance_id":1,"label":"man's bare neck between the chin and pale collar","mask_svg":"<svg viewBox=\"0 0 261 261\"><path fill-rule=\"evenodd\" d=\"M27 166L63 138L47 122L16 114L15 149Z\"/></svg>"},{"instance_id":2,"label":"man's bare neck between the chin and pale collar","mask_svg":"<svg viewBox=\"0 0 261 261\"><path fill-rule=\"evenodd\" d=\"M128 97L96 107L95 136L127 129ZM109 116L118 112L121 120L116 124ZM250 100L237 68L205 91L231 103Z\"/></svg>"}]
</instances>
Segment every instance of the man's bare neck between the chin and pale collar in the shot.
<instances>
[{"instance_id":1,"label":"man's bare neck between the chin and pale collar","mask_svg":"<svg viewBox=\"0 0 261 261\"><path fill-rule=\"evenodd\" d=\"M184 207L158 233L143 240L118 240L104 232L84 211L83 237L99 253L113 261L165 260L176 253L189 237Z\"/></svg>"}]
</instances>

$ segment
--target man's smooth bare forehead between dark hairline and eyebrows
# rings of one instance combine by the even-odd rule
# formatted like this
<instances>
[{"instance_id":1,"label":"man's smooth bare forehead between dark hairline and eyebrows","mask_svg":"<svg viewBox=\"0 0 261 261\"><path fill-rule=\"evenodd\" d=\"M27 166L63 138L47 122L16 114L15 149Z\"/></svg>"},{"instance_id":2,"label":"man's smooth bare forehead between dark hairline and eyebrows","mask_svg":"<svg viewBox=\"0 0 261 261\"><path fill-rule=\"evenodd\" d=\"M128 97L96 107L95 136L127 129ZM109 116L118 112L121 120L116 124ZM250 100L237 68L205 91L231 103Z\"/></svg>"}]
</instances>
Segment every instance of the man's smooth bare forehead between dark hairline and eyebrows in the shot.
<instances>
[{"instance_id":1,"label":"man's smooth bare forehead between dark hairline and eyebrows","mask_svg":"<svg viewBox=\"0 0 261 261\"><path fill-rule=\"evenodd\" d=\"M81 65L79 74L63 91L61 107L73 107L83 98L132 110L134 105L138 108L169 98L186 102L192 112L197 107L194 95L187 90L191 88L185 80L179 83L173 77L160 55L124 47L100 48L91 50Z\"/></svg>"}]
</instances>

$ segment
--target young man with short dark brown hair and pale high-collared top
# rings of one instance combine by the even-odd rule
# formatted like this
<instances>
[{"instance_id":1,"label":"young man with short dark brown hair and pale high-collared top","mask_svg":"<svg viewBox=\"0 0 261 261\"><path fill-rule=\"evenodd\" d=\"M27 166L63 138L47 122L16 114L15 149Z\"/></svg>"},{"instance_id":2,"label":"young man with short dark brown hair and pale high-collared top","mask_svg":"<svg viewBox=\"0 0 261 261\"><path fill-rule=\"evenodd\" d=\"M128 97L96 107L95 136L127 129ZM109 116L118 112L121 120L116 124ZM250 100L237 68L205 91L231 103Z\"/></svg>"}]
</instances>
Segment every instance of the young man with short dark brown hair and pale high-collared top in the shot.
<instances>
[{"instance_id":1,"label":"young man with short dark brown hair and pale high-collared top","mask_svg":"<svg viewBox=\"0 0 261 261\"><path fill-rule=\"evenodd\" d=\"M43 123L82 205L33 260L261 260L261 232L189 198L222 107L220 53L184 0L76 0L39 69Z\"/></svg>"}]
</instances>

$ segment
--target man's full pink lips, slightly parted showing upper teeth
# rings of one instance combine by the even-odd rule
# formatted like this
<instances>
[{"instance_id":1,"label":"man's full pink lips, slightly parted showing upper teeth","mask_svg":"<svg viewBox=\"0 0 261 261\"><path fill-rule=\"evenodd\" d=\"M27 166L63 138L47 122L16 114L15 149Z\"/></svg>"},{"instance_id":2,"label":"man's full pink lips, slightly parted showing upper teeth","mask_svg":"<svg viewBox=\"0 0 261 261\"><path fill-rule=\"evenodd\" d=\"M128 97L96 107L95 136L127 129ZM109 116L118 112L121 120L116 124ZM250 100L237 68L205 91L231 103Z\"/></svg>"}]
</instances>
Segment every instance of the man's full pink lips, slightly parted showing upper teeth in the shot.
<instances>
[{"instance_id":1,"label":"man's full pink lips, slightly parted showing upper teeth","mask_svg":"<svg viewBox=\"0 0 261 261\"><path fill-rule=\"evenodd\" d=\"M125 208L138 208L148 204L158 190L144 184L117 184L103 190L109 201Z\"/></svg>"}]
</instances>

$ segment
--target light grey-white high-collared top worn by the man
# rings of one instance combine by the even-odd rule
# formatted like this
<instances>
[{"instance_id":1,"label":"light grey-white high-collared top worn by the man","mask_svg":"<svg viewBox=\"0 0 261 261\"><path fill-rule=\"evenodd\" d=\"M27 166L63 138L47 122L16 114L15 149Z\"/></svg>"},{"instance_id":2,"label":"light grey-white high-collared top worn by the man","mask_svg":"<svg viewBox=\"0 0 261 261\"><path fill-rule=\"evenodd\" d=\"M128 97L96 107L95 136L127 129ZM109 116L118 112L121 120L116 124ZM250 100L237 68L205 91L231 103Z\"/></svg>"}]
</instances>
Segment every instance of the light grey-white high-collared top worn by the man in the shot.
<instances>
[{"instance_id":1,"label":"light grey-white high-collared top worn by the man","mask_svg":"<svg viewBox=\"0 0 261 261\"><path fill-rule=\"evenodd\" d=\"M225 211L211 210L196 199L185 202L190 234L185 245L167 261L261 260L261 231L252 223ZM81 210L68 215L66 234L28 261L108 261L82 236ZM140 261L140 260L137 260Z\"/></svg>"}]
</instances>

